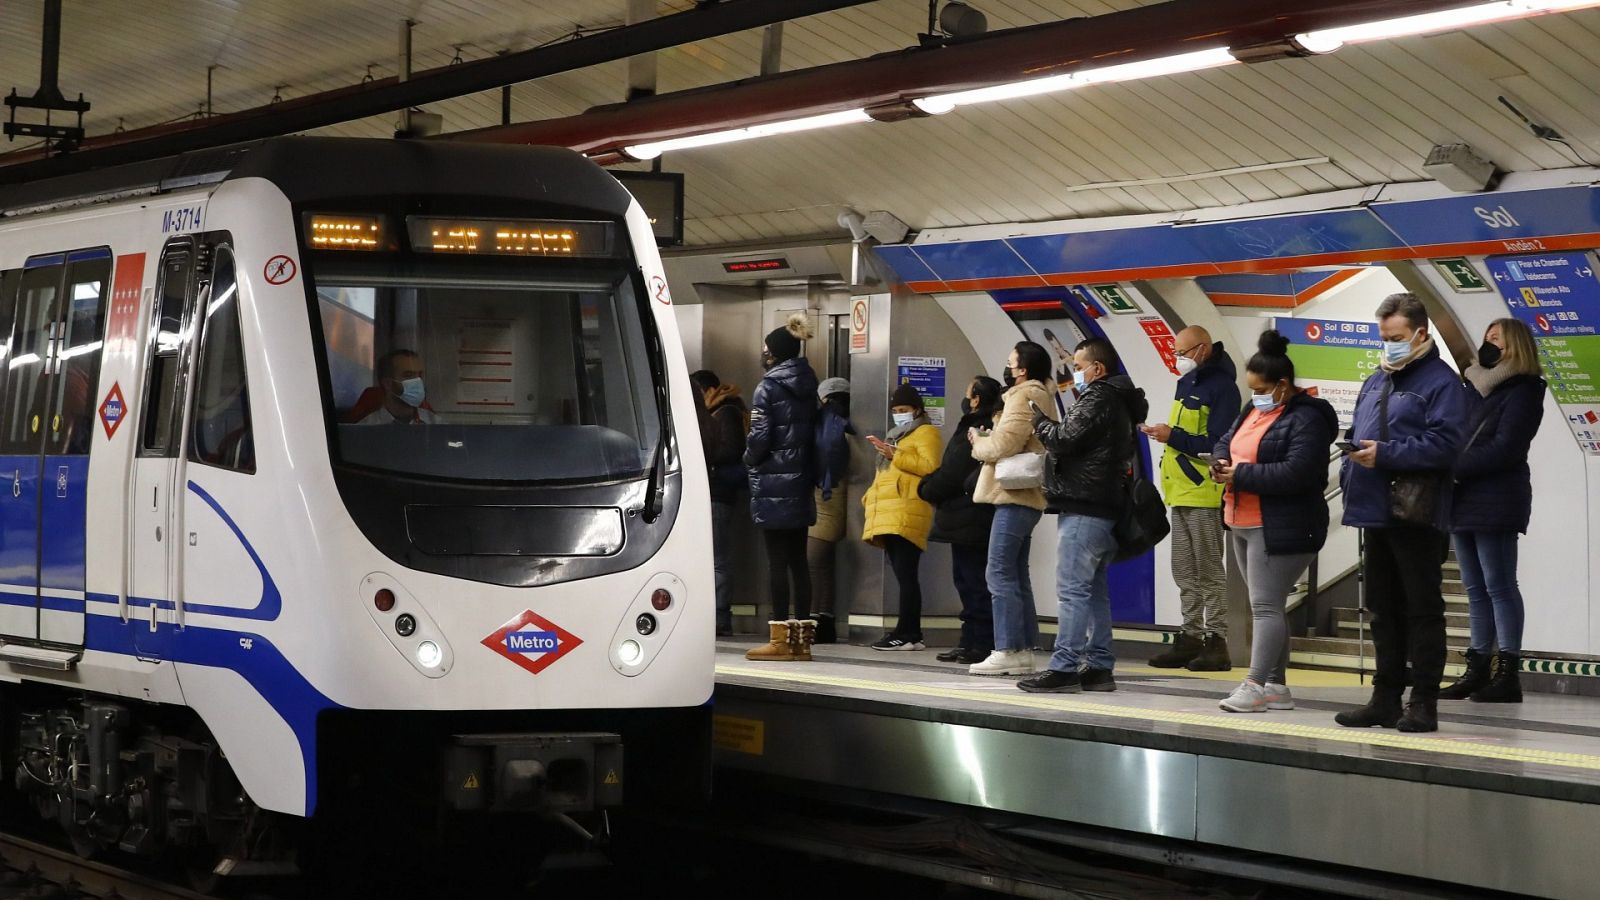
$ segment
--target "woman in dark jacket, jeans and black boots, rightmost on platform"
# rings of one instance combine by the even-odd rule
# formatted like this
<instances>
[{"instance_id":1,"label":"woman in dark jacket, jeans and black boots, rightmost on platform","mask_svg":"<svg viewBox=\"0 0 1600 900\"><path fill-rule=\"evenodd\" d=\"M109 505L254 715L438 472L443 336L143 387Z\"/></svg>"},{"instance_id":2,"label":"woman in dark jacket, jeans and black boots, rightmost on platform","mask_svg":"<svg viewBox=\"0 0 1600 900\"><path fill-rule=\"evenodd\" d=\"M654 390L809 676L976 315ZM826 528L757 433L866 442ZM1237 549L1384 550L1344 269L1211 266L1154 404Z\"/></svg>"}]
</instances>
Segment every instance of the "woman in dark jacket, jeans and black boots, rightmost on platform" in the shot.
<instances>
[{"instance_id":1,"label":"woman in dark jacket, jeans and black boots, rightmost on platform","mask_svg":"<svg viewBox=\"0 0 1600 900\"><path fill-rule=\"evenodd\" d=\"M1451 530L1467 588L1472 645L1467 673L1440 690L1440 700L1522 703L1517 535L1528 532L1533 514L1528 447L1544 418L1538 352L1528 325L1496 319L1483 335L1477 365L1462 373L1472 386L1472 416L1456 461Z\"/></svg>"}]
</instances>

